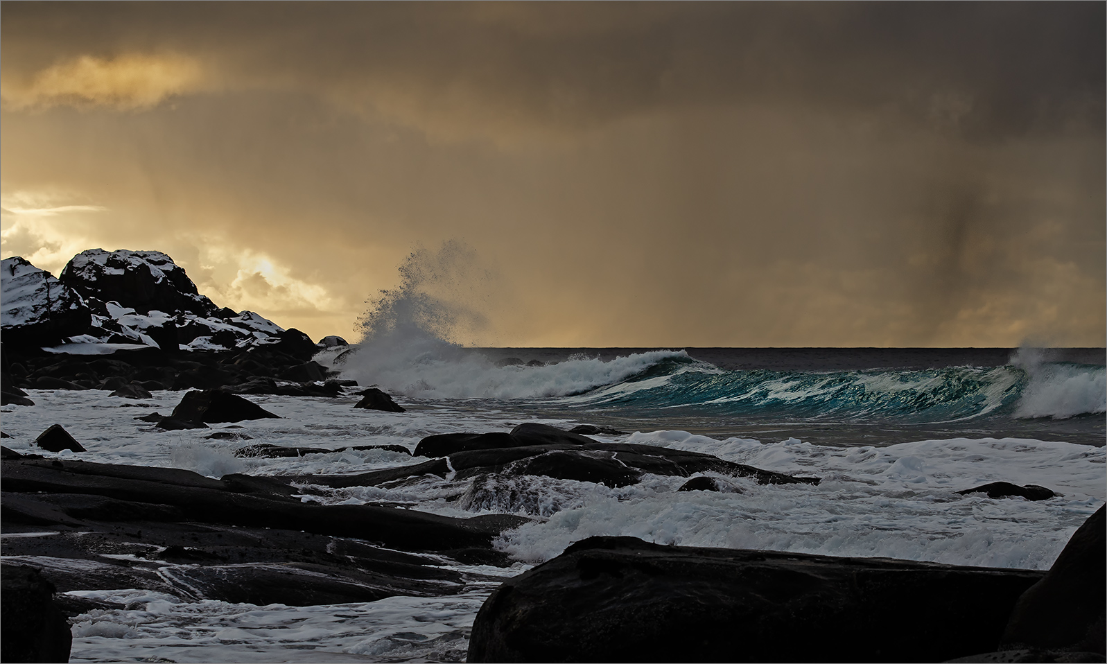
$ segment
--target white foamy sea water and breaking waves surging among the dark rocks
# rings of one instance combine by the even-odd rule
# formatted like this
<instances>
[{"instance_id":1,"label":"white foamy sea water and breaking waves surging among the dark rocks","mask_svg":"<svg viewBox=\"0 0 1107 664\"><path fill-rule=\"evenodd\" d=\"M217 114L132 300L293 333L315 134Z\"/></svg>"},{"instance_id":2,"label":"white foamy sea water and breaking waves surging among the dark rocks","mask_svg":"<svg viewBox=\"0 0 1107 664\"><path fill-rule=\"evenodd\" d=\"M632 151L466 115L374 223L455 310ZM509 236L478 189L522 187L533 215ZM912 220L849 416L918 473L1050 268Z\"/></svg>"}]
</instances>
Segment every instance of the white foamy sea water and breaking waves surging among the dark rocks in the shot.
<instances>
[{"instance_id":1,"label":"white foamy sea water and breaking waves surging among the dark rocks","mask_svg":"<svg viewBox=\"0 0 1107 664\"><path fill-rule=\"evenodd\" d=\"M703 452L823 479L817 486L763 486L725 478L727 491L707 492L676 491L686 478L653 475L618 489L542 477L424 477L313 496L446 516L531 517L534 522L496 542L516 567L482 570L505 577L593 535L1048 569L1107 492L1107 387L1103 365L1094 362L1008 354L1007 361L991 363L872 367L862 361L805 372L783 362L735 367L742 359L734 356L731 364L718 356L707 362L695 350L527 352L430 344L372 362L348 356L335 366L362 384L381 385L408 411L355 409L354 395L250 396L280 418L210 429L161 432L135 419L153 411L167 414L179 392L126 400L96 391L32 390L35 406L2 409L3 430L12 436L4 444L41 452L33 448L34 437L58 423L87 452L46 456L179 467L211 477L332 475L420 459L381 449L278 459L239 458L234 452L257 443L414 449L427 435L509 430L523 422L607 424L627 433L594 437ZM332 363L337 354L329 351L320 360ZM215 432L249 439L209 439ZM1027 501L956 492L1000 480L1041 485L1058 495ZM81 591L115 598L126 609L77 616L72 661L461 661L473 618L490 590L307 608L183 602L134 589Z\"/></svg>"}]
</instances>

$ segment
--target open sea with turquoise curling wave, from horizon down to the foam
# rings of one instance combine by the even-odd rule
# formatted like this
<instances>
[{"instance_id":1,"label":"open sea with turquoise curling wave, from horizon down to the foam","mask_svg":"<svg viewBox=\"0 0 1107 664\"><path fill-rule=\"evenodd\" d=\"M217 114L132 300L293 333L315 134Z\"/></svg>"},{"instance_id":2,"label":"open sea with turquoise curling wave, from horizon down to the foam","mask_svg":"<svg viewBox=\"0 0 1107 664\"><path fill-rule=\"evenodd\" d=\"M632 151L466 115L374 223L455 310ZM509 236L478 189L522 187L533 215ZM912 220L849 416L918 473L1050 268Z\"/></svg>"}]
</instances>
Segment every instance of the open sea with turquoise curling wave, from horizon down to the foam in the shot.
<instances>
[{"instance_id":1,"label":"open sea with turquoise curling wave, from horizon down to the foam","mask_svg":"<svg viewBox=\"0 0 1107 664\"><path fill-rule=\"evenodd\" d=\"M1107 443L1104 349L473 349L504 371L526 363L629 375L508 401L535 416L713 438L790 437L838 446L1016 437ZM576 363L575 363L576 361ZM517 362L521 362L519 365ZM549 366L542 369L549 371ZM603 382L609 374L614 378ZM537 373L536 373L537 377ZM550 378L552 380L552 377ZM480 400L484 401L484 400Z\"/></svg>"}]
</instances>

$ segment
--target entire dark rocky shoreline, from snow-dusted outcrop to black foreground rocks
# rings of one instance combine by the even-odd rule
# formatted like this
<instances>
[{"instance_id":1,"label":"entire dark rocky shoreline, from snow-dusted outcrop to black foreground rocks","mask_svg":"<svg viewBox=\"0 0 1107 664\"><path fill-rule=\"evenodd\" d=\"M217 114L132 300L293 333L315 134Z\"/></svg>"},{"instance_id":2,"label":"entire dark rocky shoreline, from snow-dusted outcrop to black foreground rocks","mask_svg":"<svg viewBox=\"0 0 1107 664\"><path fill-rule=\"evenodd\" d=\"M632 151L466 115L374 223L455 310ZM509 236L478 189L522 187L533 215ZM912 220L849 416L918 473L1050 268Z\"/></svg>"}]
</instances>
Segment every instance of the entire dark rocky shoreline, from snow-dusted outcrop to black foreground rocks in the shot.
<instances>
[{"instance_id":1,"label":"entire dark rocky shoreline, from snow-dusted outcrop to black foreground rocks","mask_svg":"<svg viewBox=\"0 0 1107 664\"><path fill-rule=\"evenodd\" d=\"M313 343L252 312L219 309L159 252L91 250L60 280L20 260L6 259L0 270L6 406L42 407L27 390L101 390L120 400L179 391L172 412L134 418L151 427L144 436L278 417L249 395L342 403L356 394L354 408L404 412L384 392L312 360L344 345L341 339ZM592 435L621 432L526 422L430 435L408 449L273 445L219 428L206 438L232 444L240 458L382 448L425 459L219 479L3 447L0 658L66 661L68 618L126 609L80 591L126 588L183 602L288 606L492 592L472 634L457 636L468 639L473 662L1104 661L1103 508L1048 572L593 537L503 582L515 561L495 541L532 521L518 512L540 512L542 496L530 486L537 478L619 489L660 476L683 483L666 490L736 494L821 481ZM86 443L54 425L34 445L80 453ZM427 480L447 486L444 500L462 510L490 513L325 500L352 487ZM1005 481L951 494L1054 496ZM516 513L496 513L507 511Z\"/></svg>"}]
</instances>

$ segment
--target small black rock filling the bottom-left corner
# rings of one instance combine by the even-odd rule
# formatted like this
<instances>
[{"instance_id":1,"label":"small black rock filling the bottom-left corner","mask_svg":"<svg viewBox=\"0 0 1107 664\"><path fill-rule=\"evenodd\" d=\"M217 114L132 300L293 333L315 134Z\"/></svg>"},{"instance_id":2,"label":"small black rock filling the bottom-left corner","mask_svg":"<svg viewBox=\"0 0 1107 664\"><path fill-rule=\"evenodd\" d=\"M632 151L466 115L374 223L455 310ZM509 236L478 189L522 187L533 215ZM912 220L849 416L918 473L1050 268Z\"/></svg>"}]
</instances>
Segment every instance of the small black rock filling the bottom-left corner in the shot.
<instances>
[{"instance_id":1,"label":"small black rock filling the bottom-left corner","mask_svg":"<svg viewBox=\"0 0 1107 664\"><path fill-rule=\"evenodd\" d=\"M35 568L0 566L0 661L69 662L73 635L54 592Z\"/></svg>"}]
</instances>

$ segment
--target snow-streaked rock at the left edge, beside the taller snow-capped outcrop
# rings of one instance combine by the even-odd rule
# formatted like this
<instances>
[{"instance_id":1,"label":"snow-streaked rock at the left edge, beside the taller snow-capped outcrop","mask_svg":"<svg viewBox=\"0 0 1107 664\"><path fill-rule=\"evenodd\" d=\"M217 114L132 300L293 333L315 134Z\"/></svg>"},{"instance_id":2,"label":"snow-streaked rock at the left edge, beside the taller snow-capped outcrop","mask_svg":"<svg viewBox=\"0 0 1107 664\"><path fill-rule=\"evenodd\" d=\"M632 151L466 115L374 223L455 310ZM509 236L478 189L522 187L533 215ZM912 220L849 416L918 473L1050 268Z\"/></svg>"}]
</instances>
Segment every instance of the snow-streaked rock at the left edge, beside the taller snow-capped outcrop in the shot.
<instances>
[{"instance_id":1,"label":"snow-streaked rock at the left edge, beside the taller snow-capped outcrop","mask_svg":"<svg viewBox=\"0 0 1107 664\"><path fill-rule=\"evenodd\" d=\"M81 295L50 272L19 256L0 261L0 328L6 342L56 343L85 333L91 322Z\"/></svg>"}]
</instances>

